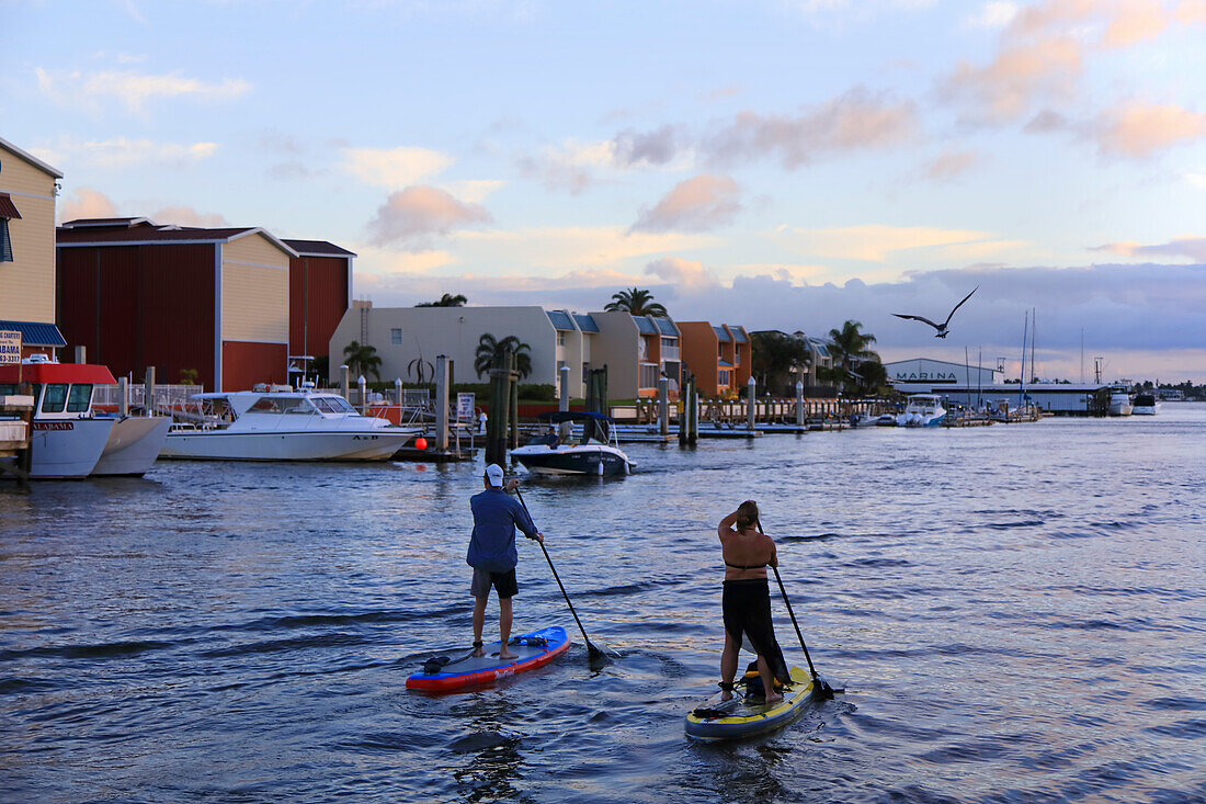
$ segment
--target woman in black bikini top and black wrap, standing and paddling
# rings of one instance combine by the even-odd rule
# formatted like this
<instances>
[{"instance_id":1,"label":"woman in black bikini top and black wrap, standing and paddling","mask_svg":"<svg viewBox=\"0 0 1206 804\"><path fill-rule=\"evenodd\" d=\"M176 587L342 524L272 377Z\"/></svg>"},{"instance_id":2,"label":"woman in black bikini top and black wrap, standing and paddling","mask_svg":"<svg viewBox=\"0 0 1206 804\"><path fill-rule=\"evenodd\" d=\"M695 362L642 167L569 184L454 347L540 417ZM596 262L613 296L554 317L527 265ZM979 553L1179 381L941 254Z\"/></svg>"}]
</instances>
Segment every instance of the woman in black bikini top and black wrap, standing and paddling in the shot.
<instances>
[{"instance_id":1,"label":"woman in black bikini top and black wrap, standing and paddling","mask_svg":"<svg viewBox=\"0 0 1206 804\"><path fill-rule=\"evenodd\" d=\"M720 654L720 688L722 700L733 697L733 677L742 648L742 635L757 653L759 675L767 703L783 698L774 689L774 680L790 683L791 675L783 660L783 651L774 639L771 622L771 589L766 579L767 566L779 566L774 542L759 530L757 503L743 502L737 511L720 520L720 553L725 559L725 587L721 610L725 617L725 649Z\"/></svg>"}]
</instances>

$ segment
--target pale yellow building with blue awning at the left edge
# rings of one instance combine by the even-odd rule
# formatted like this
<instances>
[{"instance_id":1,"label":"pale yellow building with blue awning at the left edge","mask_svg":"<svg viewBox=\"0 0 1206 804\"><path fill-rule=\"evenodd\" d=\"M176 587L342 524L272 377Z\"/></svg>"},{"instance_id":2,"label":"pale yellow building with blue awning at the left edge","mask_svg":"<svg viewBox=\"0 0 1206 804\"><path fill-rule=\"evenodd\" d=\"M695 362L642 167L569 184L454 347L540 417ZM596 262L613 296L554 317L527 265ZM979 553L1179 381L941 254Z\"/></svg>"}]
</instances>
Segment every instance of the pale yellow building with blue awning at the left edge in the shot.
<instances>
[{"instance_id":1,"label":"pale yellow building with blue awning at the left edge","mask_svg":"<svg viewBox=\"0 0 1206 804\"><path fill-rule=\"evenodd\" d=\"M0 330L23 354L65 345L54 326L54 197L59 170L0 139Z\"/></svg>"}]
</instances>

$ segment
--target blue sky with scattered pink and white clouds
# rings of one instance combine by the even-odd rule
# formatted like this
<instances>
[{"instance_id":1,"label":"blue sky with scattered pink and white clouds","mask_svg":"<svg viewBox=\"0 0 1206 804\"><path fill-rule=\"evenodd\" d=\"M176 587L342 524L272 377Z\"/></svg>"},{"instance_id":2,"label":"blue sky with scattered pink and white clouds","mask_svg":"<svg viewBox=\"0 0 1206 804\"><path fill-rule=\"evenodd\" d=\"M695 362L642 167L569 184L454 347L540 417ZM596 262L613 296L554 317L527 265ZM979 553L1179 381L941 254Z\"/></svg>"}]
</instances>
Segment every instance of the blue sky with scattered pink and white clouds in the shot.
<instances>
[{"instance_id":1,"label":"blue sky with scattered pink and white clouds","mask_svg":"<svg viewBox=\"0 0 1206 804\"><path fill-rule=\"evenodd\" d=\"M60 220L330 240L376 307L1206 381L1206 0L0 0L0 136Z\"/></svg>"}]
</instances>

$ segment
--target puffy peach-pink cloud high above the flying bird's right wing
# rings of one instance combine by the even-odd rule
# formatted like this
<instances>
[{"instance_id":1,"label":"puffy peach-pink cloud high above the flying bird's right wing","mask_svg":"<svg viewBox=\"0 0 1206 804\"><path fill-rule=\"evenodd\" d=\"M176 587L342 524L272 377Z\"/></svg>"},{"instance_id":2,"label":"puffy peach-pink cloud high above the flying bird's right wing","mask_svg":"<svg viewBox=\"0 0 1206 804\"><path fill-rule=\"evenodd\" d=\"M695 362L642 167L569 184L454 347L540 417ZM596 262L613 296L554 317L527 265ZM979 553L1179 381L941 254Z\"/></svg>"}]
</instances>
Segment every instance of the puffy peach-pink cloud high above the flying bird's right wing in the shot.
<instances>
[{"instance_id":1,"label":"puffy peach-pink cloud high above the flying bird's right wing","mask_svg":"<svg viewBox=\"0 0 1206 804\"><path fill-rule=\"evenodd\" d=\"M984 68L960 62L941 92L948 100L965 105L971 121L1005 123L1040 100L1071 98L1081 70L1076 40L1042 39L1003 47Z\"/></svg>"}]
</instances>

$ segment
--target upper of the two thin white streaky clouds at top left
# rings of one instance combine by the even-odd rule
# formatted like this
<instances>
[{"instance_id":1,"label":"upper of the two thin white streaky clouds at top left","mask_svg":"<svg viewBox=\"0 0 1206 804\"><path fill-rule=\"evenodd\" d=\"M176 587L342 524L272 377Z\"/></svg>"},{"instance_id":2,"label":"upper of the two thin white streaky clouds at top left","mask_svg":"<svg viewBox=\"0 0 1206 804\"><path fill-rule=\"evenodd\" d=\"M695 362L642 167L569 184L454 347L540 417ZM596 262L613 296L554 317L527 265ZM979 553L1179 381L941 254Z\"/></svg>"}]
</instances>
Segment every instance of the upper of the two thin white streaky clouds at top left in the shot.
<instances>
[{"instance_id":1,"label":"upper of the two thin white streaky clouds at top left","mask_svg":"<svg viewBox=\"0 0 1206 804\"><path fill-rule=\"evenodd\" d=\"M35 75L42 94L66 109L94 109L98 100L112 98L131 111L142 111L147 103L160 99L223 101L251 92L251 83L242 78L209 83L178 74L146 75L131 70L51 72L42 68L35 68Z\"/></svg>"}]
</instances>

